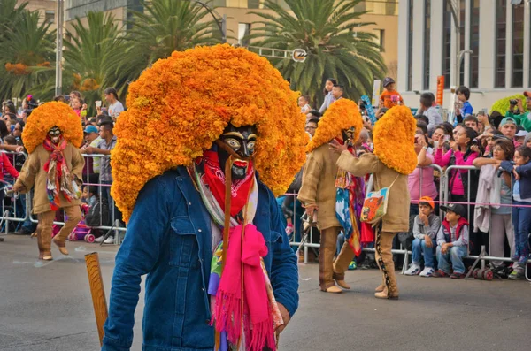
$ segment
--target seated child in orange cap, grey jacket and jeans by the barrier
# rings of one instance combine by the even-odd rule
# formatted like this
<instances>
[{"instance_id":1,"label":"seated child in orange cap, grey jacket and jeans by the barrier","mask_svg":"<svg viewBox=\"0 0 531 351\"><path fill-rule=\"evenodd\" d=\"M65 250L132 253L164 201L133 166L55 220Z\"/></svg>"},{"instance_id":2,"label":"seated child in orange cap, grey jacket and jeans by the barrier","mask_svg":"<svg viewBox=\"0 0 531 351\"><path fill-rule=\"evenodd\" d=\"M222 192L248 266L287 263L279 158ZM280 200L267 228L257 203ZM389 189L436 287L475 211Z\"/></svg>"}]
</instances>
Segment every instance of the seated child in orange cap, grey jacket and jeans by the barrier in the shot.
<instances>
[{"instance_id":1,"label":"seated child in orange cap, grey jacket and jeans by the barrier","mask_svg":"<svg viewBox=\"0 0 531 351\"><path fill-rule=\"evenodd\" d=\"M435 237L441 227L441 219L435 215L435 202L429 196L423 196L419 200L419 215L415 217L413 225L413 263L405 275L431 277L434 271L434 247ZM424 256L424 270L420 271L420 257Z\"/></svg>"}]
</instances>

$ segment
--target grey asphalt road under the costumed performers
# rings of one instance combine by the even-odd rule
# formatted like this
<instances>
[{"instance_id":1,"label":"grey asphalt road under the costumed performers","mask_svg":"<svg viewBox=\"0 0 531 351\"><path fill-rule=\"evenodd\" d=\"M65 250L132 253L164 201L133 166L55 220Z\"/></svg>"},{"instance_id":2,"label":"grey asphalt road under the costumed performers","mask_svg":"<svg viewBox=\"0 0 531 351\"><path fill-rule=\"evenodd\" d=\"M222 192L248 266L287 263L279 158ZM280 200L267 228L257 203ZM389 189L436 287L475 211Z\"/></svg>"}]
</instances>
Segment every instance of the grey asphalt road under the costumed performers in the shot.
<instances>
[{"instance_id":1,"label":"grey asphalt road under the costumed performers","mask_svg":"<svg viewBox=\"0 0 531 351\"><path fill-rule=\"evenodd\" d=\"M69 243L70 256L41 263L35 240L0 242L0 350L98 350L83 256L100 252L106 293L114 246ZM319 291L318 265L300 265L300 307L281 335L281 350L528 350L531 284L398 277L399 301L373 297L376 270L351 271L345 294ZM142 304L143 296L140 303ZM142 306L135 343L142 345Z\"/></svg>"}]
</instances>

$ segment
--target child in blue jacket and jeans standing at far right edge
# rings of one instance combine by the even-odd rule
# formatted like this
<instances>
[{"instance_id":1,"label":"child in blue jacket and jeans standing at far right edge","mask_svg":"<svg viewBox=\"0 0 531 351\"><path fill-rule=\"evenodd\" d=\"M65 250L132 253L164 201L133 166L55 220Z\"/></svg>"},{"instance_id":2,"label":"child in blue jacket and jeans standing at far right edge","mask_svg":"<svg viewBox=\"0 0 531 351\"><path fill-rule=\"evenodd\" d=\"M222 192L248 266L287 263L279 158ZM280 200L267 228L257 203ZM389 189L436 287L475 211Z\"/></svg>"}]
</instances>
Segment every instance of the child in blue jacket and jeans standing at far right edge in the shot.
<instances>
[{"instance_id":1,"label":"child in blue jacket and jeans standing at far right edge","mask_svg":"<svg viewBox=\"0 0 531 351\"><path fill-rule=\"evenodd\" d=\"M531 148L519 147L514 153L514 164L504 161L501 168L512 174L514 185L512 187L512 226L514 227L516 252L512 256L513 265L510 279L521 279L529 256L527 246L528 235L531 233ZM521 206L521 207L520 207Z\"/></svg>"}]
</instances>

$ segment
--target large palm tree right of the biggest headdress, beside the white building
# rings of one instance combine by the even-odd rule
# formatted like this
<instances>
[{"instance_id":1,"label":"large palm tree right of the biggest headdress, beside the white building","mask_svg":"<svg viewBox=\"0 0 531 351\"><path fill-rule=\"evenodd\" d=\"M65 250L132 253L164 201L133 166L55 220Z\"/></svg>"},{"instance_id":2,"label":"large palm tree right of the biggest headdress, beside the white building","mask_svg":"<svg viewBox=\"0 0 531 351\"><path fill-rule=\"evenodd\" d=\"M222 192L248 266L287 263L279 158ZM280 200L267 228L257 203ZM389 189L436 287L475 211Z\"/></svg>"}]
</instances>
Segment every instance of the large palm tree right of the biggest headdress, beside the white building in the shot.
<instances>
[{"instance_id":1,"label":"large palm tree right of the biggest headdress, beside the white building","mask_svg":"<svg viewBox=\"0 0 531 351\"><path fill-rule=\"evenodd\" d=\"M345 87L345 95L358 99L373 89L373 80L381 79L386 66L375 36L363 32L372 23L359 22L366 12L355 11L359 0L285 0L289 10L272 0L266 9L274 13L250 12L263 20L249 39L260 47L294 50L304 49L304 64L286 59L272 59L292 88L314 97L321 103L321 89L327 78L335 78ZM292 13L290 13L291 11Z\"/></svg>"}]
</instances>

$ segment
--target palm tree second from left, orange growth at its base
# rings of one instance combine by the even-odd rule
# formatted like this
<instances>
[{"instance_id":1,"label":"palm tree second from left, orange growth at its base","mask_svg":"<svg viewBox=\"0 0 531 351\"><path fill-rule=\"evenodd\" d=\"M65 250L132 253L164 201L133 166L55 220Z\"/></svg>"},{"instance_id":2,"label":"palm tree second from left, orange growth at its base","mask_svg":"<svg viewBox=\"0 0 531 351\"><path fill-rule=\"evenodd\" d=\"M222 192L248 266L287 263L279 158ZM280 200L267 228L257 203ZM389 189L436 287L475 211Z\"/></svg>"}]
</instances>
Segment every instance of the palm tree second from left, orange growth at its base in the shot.
<instances>
[{"instance_id":1,"label":"palm tree second from left, orange growth at its base","mask_svg":"<svg viewBox=\"0 0 531 351\"><path fill-rule=\"evenodd\" d=\"M65 41L65 80L72 90L80 90L89 105L101 100L104 88L117 82L116 57L123 59L126 50L119 22L111 14L89 12L86 25L76 19Z\"/></svg>"}]
</instances>

